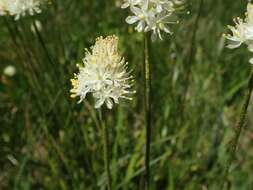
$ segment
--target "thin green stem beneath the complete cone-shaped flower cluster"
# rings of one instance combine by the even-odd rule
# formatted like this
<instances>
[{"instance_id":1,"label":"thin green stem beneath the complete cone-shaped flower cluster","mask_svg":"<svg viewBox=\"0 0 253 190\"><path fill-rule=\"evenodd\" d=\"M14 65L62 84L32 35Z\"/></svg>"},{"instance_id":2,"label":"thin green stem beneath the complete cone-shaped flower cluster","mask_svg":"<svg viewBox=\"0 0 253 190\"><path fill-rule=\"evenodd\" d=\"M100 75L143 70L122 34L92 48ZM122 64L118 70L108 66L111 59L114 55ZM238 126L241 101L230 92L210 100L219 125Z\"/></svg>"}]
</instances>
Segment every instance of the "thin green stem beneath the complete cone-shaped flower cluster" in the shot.
<instances>
[{"instance_id":1,"label":"thin green stem beneath the complete cone-shaped flower cluster","mask_svg":"<svg viewBox=\"0 0 253 190\"><path fill-rule=\"evenodd\" d=\"M103 121L102 117L102 110L99 109L98 111L99 120L102 128L102 138L103 138L103 145L104 145L104 165L106 170L106 177L107 177L107 188L108 190L112 190L112 178L111 178L111 171L110 171L110 158L109 158L109 141L108 141L108 129Z\"/></svg>"}]
</instances>

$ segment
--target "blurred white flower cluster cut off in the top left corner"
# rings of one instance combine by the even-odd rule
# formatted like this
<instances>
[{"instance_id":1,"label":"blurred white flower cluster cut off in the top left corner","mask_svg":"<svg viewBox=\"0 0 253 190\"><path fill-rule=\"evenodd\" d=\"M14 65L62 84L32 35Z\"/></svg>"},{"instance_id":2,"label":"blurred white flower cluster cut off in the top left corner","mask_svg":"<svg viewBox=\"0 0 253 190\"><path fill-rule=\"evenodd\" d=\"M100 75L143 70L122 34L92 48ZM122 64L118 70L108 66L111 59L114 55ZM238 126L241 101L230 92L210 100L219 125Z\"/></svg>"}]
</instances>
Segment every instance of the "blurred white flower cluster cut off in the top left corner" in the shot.
<instances>
[{"instance_id":1,"label":"blurred white flower cluster cut off in the top left corner","mask_svg":"<svg viewBox=\"0 0 253 190\"><path fill-rule=\"evenodd\" d=\"M11 15L15 20L18 20L26 14L40 13L42 2L43 0L1 0L0 15Z\"/></svg>"}]
</instances>

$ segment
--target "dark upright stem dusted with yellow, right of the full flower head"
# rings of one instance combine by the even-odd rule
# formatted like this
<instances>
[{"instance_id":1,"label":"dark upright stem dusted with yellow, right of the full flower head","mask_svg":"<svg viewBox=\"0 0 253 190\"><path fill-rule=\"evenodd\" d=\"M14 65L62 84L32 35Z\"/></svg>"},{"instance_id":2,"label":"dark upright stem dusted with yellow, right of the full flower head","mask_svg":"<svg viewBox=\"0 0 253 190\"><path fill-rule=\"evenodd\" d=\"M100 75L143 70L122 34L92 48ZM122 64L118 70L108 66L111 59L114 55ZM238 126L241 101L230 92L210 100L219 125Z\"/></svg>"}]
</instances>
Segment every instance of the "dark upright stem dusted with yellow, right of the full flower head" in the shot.
<instances>
[{"instance_id":1,"label":"dark upright stem dusted with yellow, right of the full flower head","mask_svg":"<svg viewBox=\"0 0 253 190\"><path fill-rule=\"evenodd\" d=\"M145 125L146 125L146 156L145 156L145 187L149 189L150 183L150 141L151 141L151 67L149 62L150 34L144 34L144 97L145 97Z\"/></svg>"}]
</instances>

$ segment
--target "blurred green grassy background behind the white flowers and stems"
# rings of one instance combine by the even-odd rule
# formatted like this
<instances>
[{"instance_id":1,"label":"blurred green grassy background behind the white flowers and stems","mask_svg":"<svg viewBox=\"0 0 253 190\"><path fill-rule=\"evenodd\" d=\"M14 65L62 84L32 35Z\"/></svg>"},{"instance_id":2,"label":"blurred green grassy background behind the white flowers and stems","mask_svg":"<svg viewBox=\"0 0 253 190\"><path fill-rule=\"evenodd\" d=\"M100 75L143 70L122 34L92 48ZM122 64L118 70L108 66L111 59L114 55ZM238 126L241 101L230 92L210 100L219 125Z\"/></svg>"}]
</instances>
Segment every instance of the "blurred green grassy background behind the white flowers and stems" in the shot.
<instances>
[{"instance_id":1,"label":"blurred green grassy background behind the white flowers and stems","mask_svg":"<svg viewBox=\"0 0 253 190\"><path fill-rule=\"evenodd\" d=\"M102 143L92 98L69 98L75 64L95 38L116 34L137 94L108 111L113 189L144 188L143 36L117 0L64 0L18 22L0 18L0 189L105 189ZM189 0L174 35L152 44L151 189L217 190L251 65L245 47L225 48L222 33L246 1ZM41 39L32 23L42 24ZM31 30L31 28L33 28ZM14 65L14 77L3 75ZM191 71L188 75L188 71ZM185 99L185 101L183 101ZM253 189L252 106L229 174L234 190Z\"/></svg>"}]
</instances>

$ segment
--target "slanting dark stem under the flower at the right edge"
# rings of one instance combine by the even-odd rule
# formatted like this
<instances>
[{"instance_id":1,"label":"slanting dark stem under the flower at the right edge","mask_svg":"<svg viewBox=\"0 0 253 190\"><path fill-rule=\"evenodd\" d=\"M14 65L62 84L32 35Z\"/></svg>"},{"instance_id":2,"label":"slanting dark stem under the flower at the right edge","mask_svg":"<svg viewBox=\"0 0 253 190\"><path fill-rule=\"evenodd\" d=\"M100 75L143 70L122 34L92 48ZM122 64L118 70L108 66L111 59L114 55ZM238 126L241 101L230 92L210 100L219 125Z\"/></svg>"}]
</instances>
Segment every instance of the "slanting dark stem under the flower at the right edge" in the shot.
<instances>
[{"instance_id":1,"label":"slanting dark stem under the flower at the right edge","mask_svg":"<svg viewBox=\"0 0 253 190\"><path fill-rule=\"evenodd\" d=\"M229 151L229 154L230 154L229 156L230 157L228 159L228 164L227 164L227 167L225 169L225 175L224 175L224 178L222 180L222 188L221 189L223 189L225 179L227 179L227 177L228 177L230 166L231 166L231 164L232 164L232 162L235 158L235 152L236 152L236 149L237 149L237 146L238 146L239 138L240 138L242 129L243 129L244 124L245 124L245 119L246 119L247 110L248 110L249 103L250 103L250 97L251 97L251 94L252 94L252 89L253 89L253 71L250 74L250 78L249 78L249 82L248 82L248 88L247 88L247 92L246 92L246 95L245 95L245 100L244 100L244 104L243 104L243 107L242 107L242 111L241 111L241 114L240 114L240 119L239 119L239 122L237 123L236 128L235 128L235 136L233 138L232 146L231 146L230 151Z\"/></svg>"}]
</instances>

